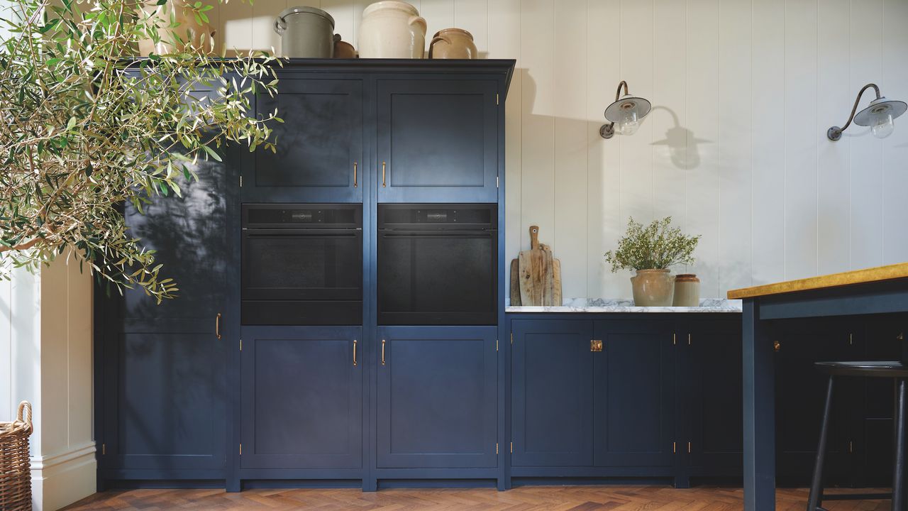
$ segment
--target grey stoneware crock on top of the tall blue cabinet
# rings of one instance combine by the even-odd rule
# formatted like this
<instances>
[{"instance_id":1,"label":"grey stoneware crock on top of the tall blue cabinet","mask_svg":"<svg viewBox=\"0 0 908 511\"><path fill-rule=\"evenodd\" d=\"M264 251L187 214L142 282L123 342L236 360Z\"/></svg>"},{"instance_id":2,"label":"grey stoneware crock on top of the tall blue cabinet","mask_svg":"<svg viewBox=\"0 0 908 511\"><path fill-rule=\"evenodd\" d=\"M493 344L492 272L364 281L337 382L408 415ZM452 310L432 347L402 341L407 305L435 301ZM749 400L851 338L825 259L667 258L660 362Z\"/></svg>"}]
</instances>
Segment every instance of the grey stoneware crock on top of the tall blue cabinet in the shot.
<instances>
[{"instance_id":1,"label":"grey stoneware crock on top of the tall blue cabinet","mask_svg":"<svg viewBox=\"0 0 908 511\"><path fill-rule=\"evenodd\" d=\"M331 58L334 54L334 18L315 7L290 7L274 20L281 35L281 55Z\"/></svg>"}]
</instances>

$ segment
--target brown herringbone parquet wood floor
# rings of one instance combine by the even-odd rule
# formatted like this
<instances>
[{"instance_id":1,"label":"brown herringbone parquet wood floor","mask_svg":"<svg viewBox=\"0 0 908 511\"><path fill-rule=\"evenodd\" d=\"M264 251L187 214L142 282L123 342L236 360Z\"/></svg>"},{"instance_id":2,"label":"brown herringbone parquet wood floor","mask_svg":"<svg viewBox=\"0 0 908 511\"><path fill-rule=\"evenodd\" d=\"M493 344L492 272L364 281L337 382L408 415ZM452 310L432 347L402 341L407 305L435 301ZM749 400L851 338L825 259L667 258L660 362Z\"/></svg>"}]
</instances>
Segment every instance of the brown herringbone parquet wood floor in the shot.
<instances>
[{"instance_id":1,"label":"brown herringbone parquet wood floor","mask_svg":"<svg viewBox=\"0 0 908 511\"><path fill-rule=\"evenodd\" d=\"M494 488L386 489L222 489L112 490L89 496L66 511L166 509L284 511L731 511L743 507L740 488L669 486L521 486ZM777 511L803 510L807 490L781 489ZM883 511L889 501L830 501L830 511Z\"/></svg>"}]
</instances>

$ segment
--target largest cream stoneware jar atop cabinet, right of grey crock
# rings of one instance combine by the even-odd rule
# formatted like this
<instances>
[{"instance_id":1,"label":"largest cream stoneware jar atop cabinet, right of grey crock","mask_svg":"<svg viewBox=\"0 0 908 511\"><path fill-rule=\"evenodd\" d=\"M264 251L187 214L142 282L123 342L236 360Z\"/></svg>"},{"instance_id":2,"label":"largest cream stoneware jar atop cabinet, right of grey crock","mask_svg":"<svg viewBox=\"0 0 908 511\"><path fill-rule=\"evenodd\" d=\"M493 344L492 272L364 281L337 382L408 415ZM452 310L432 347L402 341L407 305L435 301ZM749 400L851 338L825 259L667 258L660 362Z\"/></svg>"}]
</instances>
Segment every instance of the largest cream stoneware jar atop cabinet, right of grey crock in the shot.
<instances>
[{"instance_id":1,"label":"largest cream stoneware jar atop cabinet, right of grey crock","mask_svg":"<svg viewBox=\"0 0 908 511\"><path fill-rule=\"evenodd\" d=\"M422 58L426 20L406 2L376 2L362 12L359 45L360 58Z\"/></svg>"}]
</instances>

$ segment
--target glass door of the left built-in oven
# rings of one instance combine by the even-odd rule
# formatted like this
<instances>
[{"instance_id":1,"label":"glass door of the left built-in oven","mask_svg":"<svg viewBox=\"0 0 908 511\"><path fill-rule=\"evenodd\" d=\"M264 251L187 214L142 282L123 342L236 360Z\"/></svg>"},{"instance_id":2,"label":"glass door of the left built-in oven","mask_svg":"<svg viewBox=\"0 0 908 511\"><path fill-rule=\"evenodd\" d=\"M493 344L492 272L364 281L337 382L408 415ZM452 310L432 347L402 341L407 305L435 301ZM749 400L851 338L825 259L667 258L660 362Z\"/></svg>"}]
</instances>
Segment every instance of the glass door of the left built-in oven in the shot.
<instances>
[{"instance_id":1,"label":"glass door of the left built-in oven","mask_svg":"<svg viewBox=\"0 0 908 511\"><path fill-rule=\"evenodd\" d=\"M362 231L243 231L242 299L361 300Z\"/></svg>"}]
</instances>

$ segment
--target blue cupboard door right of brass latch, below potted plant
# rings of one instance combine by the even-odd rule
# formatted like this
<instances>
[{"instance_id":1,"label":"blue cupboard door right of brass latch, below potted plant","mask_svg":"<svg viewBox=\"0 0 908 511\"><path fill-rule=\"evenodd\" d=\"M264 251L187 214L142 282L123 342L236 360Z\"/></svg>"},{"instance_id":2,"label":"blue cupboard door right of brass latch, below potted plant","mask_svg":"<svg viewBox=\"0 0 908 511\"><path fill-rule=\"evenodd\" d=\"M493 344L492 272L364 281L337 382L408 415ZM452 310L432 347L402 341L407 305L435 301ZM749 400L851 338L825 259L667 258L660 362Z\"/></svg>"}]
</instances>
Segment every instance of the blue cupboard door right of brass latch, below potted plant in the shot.
<instances>
[{"instance_id":1,"label":"blue cupboard door right of brass latch, below potted plant","mask_svg":"<svg viewBox=\"0 0 908 511\"><path fill-rule=\"evenodd\" d=\"M672 326L658 320L597 321L594 354L596 466L673 466L675 365Z\"/></svg>"}]
</instances>

